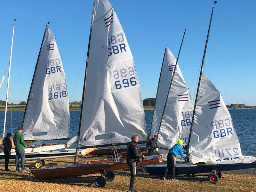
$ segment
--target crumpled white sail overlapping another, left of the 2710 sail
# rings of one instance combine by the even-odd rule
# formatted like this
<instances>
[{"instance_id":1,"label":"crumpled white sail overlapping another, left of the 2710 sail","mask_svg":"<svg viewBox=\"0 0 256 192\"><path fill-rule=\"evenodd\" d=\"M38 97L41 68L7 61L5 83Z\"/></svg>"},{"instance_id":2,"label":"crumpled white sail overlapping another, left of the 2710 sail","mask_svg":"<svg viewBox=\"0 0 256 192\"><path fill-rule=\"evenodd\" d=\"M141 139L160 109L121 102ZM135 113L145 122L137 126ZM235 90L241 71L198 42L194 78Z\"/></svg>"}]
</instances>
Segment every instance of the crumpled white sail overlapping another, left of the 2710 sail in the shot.
<instances>
[{"instance_id":1,"label":"crumpled white sail overlapping another, left of the 2710 sail","mask_svg":"<svg viewBox=\"0 0 256 192\"><path fill-rule=\"evenodd\" d=\"M184 141L183 147L188 144L193 107L193 101L184 79L178 73L174 73L158 133L157 144L159 147L171 148L177 143L178 138ZM160 149L160 153L167 154L168 151Z\"/></svg>"}]
</instances>

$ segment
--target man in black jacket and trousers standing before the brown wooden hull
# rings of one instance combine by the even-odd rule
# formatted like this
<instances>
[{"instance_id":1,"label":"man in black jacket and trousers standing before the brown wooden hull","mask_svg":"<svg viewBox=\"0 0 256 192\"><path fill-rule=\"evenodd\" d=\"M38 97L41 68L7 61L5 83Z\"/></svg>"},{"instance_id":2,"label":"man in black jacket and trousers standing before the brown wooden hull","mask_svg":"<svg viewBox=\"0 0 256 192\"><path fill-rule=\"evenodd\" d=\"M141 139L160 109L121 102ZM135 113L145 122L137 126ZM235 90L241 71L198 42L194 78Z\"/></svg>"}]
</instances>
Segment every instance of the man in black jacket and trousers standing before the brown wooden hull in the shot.
<instances>
[{"instance_id":1,"label":"man in black jacket and trousers standing before the brown wooden hull","mask_svg":"<svg viewBox=\"0 0 256 192\"><path fill-rule=\"evenodd\" d=\"M126 150L126 163L131 169L131 180L129 191L138 191L137 189L133 188L135 176L137 175L137 163L139 162L139 158L144 158L145 156L140 153L140 148L137 145L139 141L138 135L132 135L132 141L127 145Z\"/></svg>"}]
</instances>

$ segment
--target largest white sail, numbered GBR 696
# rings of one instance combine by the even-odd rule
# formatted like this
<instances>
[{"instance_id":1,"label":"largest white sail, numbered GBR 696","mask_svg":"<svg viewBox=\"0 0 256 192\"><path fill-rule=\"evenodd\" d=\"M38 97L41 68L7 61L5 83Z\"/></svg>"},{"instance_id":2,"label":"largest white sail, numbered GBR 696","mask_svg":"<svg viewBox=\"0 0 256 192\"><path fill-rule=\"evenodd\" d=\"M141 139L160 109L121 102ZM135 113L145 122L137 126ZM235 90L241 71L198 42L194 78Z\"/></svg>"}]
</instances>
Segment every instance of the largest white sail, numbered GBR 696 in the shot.
<instances>
[{"instance_id":1,"label":"largest white sail, numbered GBR 696","mask_svg":"<svg viewBox=\"0 0 256 192\"><path fill-rule=\"evenodd\" d=\"M140 84L124 30L108 0L96 0L80 141L86 146L146 140Z\"/></svg>"}]
</instances>

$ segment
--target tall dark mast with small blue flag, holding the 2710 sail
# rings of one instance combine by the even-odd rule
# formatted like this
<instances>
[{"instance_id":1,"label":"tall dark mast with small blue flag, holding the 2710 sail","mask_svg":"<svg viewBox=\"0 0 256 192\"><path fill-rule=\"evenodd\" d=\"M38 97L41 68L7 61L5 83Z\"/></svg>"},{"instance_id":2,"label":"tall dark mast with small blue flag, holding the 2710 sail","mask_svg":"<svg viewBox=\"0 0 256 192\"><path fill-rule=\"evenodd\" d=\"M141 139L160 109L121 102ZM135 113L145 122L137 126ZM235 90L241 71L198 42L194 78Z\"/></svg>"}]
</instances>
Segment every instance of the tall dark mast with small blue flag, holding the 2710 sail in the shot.
<instances>
[{"instance_id":1,"label":"tall dark mast with small blue flag, holding the 2710 sail","mask_svg":"<svg viewBox=\"0 0 256 192\"><path fill-rule=\"evenodd\" d=\"M214 10L214 6L212 7L212 14L213 14L213 10ZM188 137L187 153L188 153L188 148L189 148L189 143L190 143L190 137L191 137L191 133L192 133L192 127L193 127L193 124L194 124L194 117L195 117L196 104L197 104L197 97L198 97L198 93L199 93L201 77L202 77L202 74L203 74L205 53L206 53L206 49L207 49L208 38L209 38L210 28L211 28L211 23L212 23L212 14L211 14L211 19L210 19L210 23L209 23L208 33L207 33L206 42L205 42L205 46L204 46L204 56L203 56L203 59L202 59L201 71L200 71L200 76L199 76L199 81L198 81L198 86L197 86L197 91L196 91L196 100L195 100L195 105L194 105L194 110L193 110L193 116L192 116L192 122L191 122L191 126L190 126L189 137Z\"/></svg>"}]
</instances>

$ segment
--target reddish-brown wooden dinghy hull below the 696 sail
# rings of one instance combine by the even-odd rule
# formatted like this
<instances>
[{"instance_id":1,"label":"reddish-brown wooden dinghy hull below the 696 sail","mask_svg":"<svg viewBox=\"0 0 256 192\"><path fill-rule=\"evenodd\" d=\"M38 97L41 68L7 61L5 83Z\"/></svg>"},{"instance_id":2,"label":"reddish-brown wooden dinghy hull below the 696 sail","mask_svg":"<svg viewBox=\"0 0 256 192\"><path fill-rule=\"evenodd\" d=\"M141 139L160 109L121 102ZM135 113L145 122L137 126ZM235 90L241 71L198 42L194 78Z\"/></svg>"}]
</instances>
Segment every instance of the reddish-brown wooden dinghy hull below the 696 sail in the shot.
<instances>
[{"instance_id":1,"label":"reddish-brown wooden dinghy hull below the 696 sail","mask_svg":"<svg viewBox=\"0 0 256 192\"><path fill-rule=\"evenodd\" d=\"M144 159L143 164L139 161L137 166L145 166L150 164L156 164L162 162L162 156L146 156L148 161ZM141 160L141 159L140 159ZM31 173L37 179L58 179L67 177L76 177L81 175L90 175L100 173L101 169L106 172L128 169L129 166L126 164L126 159L121 161L113 161L112 159L104 159L99 161L90 161L87 164L66 164L49 168L33 169Z\"/></svg>"}]
</instances>

